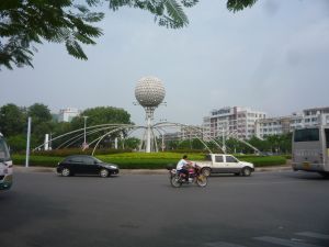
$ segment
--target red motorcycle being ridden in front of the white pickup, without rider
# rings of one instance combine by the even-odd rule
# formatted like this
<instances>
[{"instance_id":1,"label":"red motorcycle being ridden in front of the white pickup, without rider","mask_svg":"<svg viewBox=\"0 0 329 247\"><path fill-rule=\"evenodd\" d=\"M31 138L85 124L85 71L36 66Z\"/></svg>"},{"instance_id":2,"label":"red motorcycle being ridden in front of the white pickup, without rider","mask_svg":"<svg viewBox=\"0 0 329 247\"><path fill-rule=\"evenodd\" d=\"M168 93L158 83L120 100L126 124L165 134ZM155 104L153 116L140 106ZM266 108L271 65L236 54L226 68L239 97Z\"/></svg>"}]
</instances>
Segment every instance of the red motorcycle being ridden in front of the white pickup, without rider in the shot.
<instances>
[{"instance_id":1,"label":"red motorcycle being ridden in front of the white pickup, without rider","mask_svg":"<svg viewBox=\"0 0 329 247\"><path fill-rule=\"evenodd\" d=\"M181 187L184 184L196 183L198 187L207 186L207 177L202 175L201 168L195 165L194 167L189 168L189 180L186 181L185 175L178 171L177 169L169 169L170 183L174 188Z\"/></svg>"}]
</instances>

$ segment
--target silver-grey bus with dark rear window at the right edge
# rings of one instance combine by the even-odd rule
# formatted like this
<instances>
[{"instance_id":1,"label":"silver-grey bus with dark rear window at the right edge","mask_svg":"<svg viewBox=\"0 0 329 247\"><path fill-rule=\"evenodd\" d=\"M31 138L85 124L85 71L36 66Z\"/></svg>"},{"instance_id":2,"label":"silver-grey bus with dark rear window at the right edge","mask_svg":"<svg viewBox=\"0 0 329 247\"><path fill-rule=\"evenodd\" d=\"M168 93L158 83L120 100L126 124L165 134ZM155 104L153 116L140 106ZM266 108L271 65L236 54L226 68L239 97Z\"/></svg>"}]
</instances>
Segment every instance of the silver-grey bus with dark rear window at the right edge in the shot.
<instances>
[{"instance_id":1,"label":"silver-grey bus with dark rear window at the right edge","mask_svg":"<svg viewBox=\"0 0 329 247\"><path fill-rule=\"evenodd\" d=\"M329 125L295 130L292 148L294 170L316 171L329 177Z\"/></svg>"}]
</instances>

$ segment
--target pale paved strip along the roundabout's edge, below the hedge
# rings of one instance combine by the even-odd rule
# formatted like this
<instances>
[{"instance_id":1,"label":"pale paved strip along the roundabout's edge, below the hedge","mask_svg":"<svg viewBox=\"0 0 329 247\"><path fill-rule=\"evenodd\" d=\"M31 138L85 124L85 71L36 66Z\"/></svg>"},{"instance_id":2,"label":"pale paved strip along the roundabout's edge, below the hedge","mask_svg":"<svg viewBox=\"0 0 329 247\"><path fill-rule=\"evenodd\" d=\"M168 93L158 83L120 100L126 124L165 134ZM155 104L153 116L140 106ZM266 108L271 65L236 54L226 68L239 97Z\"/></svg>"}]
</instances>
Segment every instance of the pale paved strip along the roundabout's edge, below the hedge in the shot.
<instances>
[{"instance_id":1,"label":"pale paved strip along the roundabout's edge, below the hedge","mask_svg":"<svg viewBox=\"0 0 329 247\"><path fill-rule=\"evenodd\" d=\"M290 165L275 166L275 167L259 167L256 172L264 171L286 171L292 170ZM55 168L50 167L24 167L14 166L14 172L56 172ZM166 169L120 169L120 175L163 175L167 173Z\"/></svg>"}]
</instances>

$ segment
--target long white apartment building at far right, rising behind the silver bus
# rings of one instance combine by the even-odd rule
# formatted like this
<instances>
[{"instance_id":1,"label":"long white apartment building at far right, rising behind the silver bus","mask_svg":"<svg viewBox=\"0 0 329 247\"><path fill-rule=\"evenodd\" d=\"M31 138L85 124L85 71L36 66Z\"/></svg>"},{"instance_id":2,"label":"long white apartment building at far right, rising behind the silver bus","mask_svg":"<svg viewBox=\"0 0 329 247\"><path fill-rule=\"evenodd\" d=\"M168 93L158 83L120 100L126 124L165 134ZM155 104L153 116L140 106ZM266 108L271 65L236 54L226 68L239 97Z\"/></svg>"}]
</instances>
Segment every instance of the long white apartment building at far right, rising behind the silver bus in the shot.
<instances>
[{"instance_id":1,"label":"long white apartment building at far right, rising behind the silver bus","mask_svg":"<svg viewBox=\"0 0 329 247\"><path fill-rule=\"evenodd\" d=\"M286 134L295 128L329 125L329 106L303 110L290 116L279 116L256 122L256 136L263 138L269 135Z\"/></svg>"}]
</instances>

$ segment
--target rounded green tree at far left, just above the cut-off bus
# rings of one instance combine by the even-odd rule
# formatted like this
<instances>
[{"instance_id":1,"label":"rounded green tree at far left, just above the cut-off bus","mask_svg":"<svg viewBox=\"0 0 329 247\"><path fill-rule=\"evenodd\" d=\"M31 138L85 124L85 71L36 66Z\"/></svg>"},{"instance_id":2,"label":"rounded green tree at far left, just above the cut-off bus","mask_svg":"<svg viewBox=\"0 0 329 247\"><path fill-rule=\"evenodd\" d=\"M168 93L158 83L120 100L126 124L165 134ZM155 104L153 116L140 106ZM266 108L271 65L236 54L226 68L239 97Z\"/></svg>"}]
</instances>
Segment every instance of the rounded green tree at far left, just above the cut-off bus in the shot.
<instances>
[{"instance_id":1,"label":"rounded green tree at far left, just above the cut-off bus","mask_svg":"<svg viewBox=\"0 0 329 247\"><path fill-rule=\"evenodd\" d=\"M25 111L15 104L0 108L0 132L7 137L22 134L26 125Z\"/></svg>"}]
</instances>

